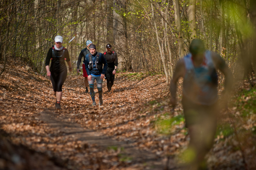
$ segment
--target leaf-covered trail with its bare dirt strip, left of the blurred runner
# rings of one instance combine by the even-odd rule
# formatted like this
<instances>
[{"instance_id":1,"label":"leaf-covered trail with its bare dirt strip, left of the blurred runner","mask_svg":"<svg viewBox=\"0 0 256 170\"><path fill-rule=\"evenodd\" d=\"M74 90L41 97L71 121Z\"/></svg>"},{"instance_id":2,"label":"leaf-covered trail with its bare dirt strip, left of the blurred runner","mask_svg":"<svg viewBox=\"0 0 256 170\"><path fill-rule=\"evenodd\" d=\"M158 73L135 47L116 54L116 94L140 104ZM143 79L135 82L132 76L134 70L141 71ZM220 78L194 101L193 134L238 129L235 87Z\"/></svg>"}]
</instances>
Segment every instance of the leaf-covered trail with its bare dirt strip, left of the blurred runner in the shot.
<instances>
[{"instance_id":1,"label":"leaf-covered trail with its bare dirt strip, left of the blurred runner","mask_svg":"<svg viewBox=\"0 0 256 170\"><path fill-rule=\"evenodd\" d=\"M13 64L7 68L16 72L7 69L0 77L0 121L14 145L42 153L67 169L143 170L166 165L168 137L154 130L154 121L169 111L167 103L159 102L166 94L162 75L118 73L112 94L103 84L103 107L91 106L81 75L69 75L63 109L55 110L49 77ZM175 150L181 145L173 146Z\"/></svg>"}]
</instances>

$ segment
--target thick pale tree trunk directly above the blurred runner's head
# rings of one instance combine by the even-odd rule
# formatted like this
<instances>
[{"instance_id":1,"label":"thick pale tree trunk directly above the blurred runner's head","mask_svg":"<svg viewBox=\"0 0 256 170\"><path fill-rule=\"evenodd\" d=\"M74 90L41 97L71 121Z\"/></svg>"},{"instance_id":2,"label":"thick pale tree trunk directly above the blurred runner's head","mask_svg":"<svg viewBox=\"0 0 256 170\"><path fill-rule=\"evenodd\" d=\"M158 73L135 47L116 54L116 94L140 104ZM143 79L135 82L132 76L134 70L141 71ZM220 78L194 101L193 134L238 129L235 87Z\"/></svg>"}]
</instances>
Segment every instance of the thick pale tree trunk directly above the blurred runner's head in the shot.
<instances>
[{"instance_id":1,"label":"thick pale tree trunk directly above the blurred runner's head","mask_svg":"<svg viewBox=\"0 0 256 170\"><path fill-rule=\"evenodd\" d=\"M190 40L196 38L196 0L189 0L188 21L191 30Z\"/></svg>"}]
</instances>

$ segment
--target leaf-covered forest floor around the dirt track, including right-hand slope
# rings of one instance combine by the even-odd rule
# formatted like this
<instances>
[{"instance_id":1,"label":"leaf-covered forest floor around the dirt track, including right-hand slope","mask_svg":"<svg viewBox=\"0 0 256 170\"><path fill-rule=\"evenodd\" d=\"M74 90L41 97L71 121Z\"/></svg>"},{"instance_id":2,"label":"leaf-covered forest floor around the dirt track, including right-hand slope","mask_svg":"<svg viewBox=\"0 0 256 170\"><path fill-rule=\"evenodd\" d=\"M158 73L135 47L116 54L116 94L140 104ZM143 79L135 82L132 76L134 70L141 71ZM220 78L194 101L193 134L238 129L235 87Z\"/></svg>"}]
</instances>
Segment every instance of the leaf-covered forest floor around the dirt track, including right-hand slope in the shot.
<instances>
[{"instance_id":1,"label":"leaf-covered forest floor around the dirt track, including right-hand slope","mask_svg":"<svg viewBox=\"0 0 256 170\"><path fill-rule=\"evenodd\" d=\"M163 74L119 72L111 94L103 83L104 105L99 107L91 105L83 77L72 74L63 85L62 110L56 110L49 77L22 63L18 58L8 59L0 76L0 169L150 169L125 157L119 146L101 149L97 141L90 144L63 135L40 120L43 111L132 143L137 150L163 160L178 161L177 155L189 142L181 81L178 105L172 109ZM244 81L236 86L228 110L219 117L215 144L206 157L208 168L256 169L255 140L256 89Z\"/></svg>"}]
</instances>

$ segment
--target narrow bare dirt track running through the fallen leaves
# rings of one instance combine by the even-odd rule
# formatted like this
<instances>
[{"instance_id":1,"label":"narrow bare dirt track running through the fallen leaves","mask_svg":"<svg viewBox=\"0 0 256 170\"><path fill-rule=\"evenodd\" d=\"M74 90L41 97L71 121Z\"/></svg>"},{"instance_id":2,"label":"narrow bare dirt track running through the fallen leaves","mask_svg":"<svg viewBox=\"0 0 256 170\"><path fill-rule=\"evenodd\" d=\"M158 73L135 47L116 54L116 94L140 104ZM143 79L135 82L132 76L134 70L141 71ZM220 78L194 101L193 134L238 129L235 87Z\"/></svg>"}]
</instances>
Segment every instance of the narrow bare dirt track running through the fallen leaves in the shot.
<instances>
[{"instance_id":1,"label":"narrow bare dirt track running through the fallen leaves","mask_svg":"<svg viewBox=\"0 0 256 170\"><path fill-rule=\"evenodd\" d=\"M159 157L150 151L138 150L132 142L116 141L100 132L83 128L81 125L71 122L69 117L60 116L49 110L41 112L39 119L56 131L60 131L62 135L72 137L74 141L79 140L90 145L96 144L101 149L113 146L123 148L120 154L122 154L122 157L129 157L131 159L130 164L137 164L137 166L140 164L145 169L151 170L162 170L166 166L166 158ZM172 163L171 161L170 165Z\"/></svg>"}]
</instances>

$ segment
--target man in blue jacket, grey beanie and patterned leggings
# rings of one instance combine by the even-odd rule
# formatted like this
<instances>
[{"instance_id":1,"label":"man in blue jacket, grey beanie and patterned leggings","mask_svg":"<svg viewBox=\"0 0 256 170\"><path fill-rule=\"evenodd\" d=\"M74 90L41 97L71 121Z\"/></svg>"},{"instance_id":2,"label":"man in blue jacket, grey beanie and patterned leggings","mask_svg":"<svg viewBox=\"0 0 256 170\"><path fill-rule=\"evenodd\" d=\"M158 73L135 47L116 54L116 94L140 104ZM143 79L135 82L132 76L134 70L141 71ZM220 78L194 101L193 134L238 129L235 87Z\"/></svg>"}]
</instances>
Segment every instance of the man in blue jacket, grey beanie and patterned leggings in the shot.
<instances>
[{"instance_id":1,"label":"man in blue jacket, grey beanie and patterned leggings","mask_svg":"<svg viewBox=\"0 0 256 170\"><path fill-rule=\"evenodd\" d=\"M93 100L93 106L96 106L95 92L94 92L94 80L97 82L97 88L99 92L99 105L103 105L102 99L102 80L105 77L107 70L107 61L102 53L96 51L96 46L91 44L89 46L90 53L85 56L84 65L88 74L88 82L90 87L90 95ZM103 69L102 66L104 65Z\"/></svg>"}]
</instances>

